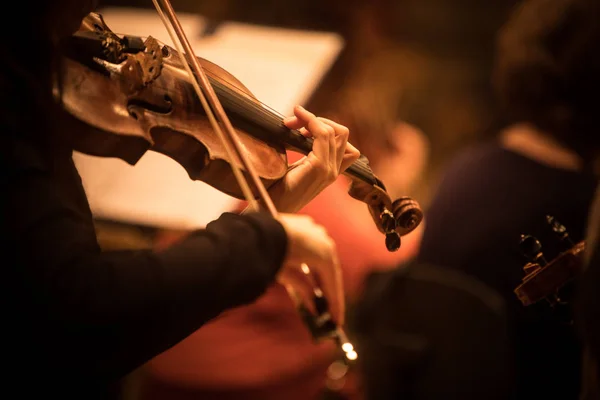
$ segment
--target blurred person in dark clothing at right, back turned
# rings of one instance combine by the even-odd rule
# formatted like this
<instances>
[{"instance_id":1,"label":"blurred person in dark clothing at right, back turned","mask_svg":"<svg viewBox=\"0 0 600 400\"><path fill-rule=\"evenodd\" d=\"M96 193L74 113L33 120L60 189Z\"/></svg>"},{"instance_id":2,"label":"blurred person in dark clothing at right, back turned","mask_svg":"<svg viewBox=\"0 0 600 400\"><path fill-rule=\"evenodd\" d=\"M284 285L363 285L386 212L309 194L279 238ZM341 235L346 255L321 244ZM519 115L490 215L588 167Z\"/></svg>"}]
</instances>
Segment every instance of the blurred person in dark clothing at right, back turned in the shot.
<instances>
[{"instance_id":1,"label":"blurred person in dark clothing at right, back turned","mask_svg":"<svg viewBox=\"0 0 600 400\"><path fill-rule=\"evenodd\" d=\"M508 121L445 171L428 210L419 261L478 278L505 299L517 398L575 399L580 344L547 304L524 307L513 290L528 261L521 234L558 249L545 216L582 240L598 175L600 4L527 0L499 33L494 86Z\"/></svg>"}]
</instances>

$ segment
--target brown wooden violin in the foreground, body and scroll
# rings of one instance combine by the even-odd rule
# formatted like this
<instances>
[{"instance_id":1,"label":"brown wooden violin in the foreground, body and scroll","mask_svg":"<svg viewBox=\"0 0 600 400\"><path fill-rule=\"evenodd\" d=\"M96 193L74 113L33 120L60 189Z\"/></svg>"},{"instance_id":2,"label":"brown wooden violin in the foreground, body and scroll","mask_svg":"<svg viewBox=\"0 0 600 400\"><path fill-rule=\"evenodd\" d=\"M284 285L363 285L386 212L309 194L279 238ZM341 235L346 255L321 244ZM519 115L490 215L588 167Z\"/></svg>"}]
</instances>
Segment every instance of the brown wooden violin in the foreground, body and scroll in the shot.
<instances>
[{"instance_id":1,"label":"brown wooden violin in the foreground, body and scroll","mask_svg":"<svg viewBox=\"0 0 600 400\"><path fill-rule=\"evenodd\" d=\"M287 128L230 73L197 59L241 148L270 188L289 169L286 150L308 154L312 139ZM243 163L223 148L175 49L152 37L118 36L100 14L90 13L72 37L61 81L64 108L87 127L74 138L78 151L131 165L146 151L156 151L179 163L191 179L244 198L230 165L246 174ZM364 156L345 174L352 179L349 194L368 205L388 249L397 250L400 236L422 221L418 203L408 197L392 201Z\"/></svg>"}]
</instances>

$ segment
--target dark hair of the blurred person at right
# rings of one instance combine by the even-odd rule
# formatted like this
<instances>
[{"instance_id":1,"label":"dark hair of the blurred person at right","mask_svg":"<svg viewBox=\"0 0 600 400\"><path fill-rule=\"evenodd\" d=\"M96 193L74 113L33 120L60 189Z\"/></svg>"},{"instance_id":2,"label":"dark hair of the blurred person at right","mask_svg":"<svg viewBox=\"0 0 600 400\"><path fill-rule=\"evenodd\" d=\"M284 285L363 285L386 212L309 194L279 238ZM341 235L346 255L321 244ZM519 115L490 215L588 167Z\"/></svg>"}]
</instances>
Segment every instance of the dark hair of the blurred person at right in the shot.
<instances>
[{"instance_id":1,"label":"dark hair of the blurred person at right","mask_svg":"<svg viewBox=\"0 0 600 400\"><path fill-rule=\"evenodd\" d=\"M493 84L511 122L529 122L583 156L600 93L600 2L528 0L500 30Z\"/></svg>"}]
</instances>

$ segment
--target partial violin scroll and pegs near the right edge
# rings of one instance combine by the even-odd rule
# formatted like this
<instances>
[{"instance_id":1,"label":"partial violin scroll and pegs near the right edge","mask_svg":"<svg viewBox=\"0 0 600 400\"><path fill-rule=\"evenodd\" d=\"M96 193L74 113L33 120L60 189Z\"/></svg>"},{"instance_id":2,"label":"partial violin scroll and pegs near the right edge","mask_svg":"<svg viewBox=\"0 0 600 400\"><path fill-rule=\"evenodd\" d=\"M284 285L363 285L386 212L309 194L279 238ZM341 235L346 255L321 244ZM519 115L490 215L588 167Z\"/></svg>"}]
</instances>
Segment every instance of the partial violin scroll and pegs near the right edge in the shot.
<instances>
[{"instance_id":1,"label":"partial violin scroll and pegs near the right edge","mask_svg":"<svg viewBox=\"0 0 600 400\"><path fill-rule=\"evenodd\" d=\"M531 235L522 235L520 248L529 260L524 266L525 276L514 290L524 306L547 301L552 307L568 305L571 301L571 284L583 269L585 241L574 243L564 225L553 216L546 222L558 242L558 255L546 260L542 244Z\"/></svg>"}]
</instances>

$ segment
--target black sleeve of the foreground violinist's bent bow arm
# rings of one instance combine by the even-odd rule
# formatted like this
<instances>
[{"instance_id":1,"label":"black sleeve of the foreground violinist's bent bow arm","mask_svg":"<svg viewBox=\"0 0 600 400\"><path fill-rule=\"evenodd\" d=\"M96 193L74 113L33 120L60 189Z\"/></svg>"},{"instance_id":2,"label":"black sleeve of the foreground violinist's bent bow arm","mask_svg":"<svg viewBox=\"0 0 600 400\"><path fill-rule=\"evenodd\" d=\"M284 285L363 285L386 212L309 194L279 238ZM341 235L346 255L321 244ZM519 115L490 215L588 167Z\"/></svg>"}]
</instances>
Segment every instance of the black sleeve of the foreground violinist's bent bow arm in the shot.
<instances>
[{"instance_id":1,"label":"black sleeve of the foreground violinist's bent bow arm","mask_svg":"<svg viewBox=\"0 0 600 400\"><path fill-rule=\"evenodd\" d=\"M160 253L101 252L91 215L45 174L6 189L17 329L42 328L34 345L56 368L95 380L123 376L223 310L252 302L286 252L283 226L266 214L224 214Z\"/></svg>"}]
</instances>

